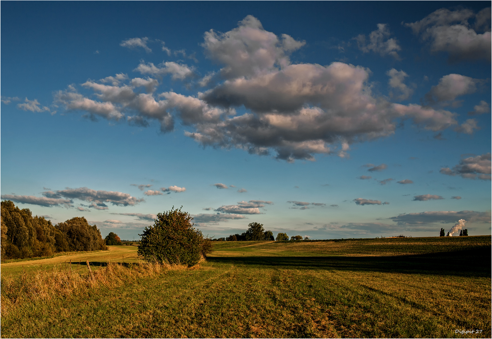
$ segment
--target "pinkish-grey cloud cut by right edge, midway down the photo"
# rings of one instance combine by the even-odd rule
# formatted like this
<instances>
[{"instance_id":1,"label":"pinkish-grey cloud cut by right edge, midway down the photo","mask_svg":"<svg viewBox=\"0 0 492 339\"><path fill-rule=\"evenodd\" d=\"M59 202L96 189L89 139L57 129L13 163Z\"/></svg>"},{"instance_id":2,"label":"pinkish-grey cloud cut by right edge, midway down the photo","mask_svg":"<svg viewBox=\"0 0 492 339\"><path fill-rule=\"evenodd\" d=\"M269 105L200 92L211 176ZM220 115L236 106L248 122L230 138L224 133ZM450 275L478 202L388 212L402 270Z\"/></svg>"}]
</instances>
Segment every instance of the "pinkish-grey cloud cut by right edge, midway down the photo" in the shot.
<instances>
[{"instance_id":1,"label":"pinkish-grey cloud cut by right edge, midway down the photo","mask_svg":"<svg viewBox=\"0 0 492 339\"><path fill-rule=\"evenodd\" d=\"M491 180L491 153L462 159L453 169L443 167L440 172L447 175L458 174L466 179Z\"/></svg>"}]
</instances>

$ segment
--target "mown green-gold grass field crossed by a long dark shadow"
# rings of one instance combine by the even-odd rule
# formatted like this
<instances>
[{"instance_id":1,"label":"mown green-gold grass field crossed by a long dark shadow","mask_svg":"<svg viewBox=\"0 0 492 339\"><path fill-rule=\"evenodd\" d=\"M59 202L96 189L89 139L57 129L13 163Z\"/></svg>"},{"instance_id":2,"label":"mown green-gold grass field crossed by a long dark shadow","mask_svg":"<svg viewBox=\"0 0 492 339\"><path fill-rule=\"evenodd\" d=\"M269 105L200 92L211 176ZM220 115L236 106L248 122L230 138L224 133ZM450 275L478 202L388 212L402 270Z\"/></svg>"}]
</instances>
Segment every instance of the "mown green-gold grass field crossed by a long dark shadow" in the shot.
<instances>
[{"instance_id":1,"label":"mown green-gold grass field crossed by a long dark shadow","mask_svg":"<svg viewBox=\"0 0 492 339\"><path fill-rule=\"evenodd\" d=\"M491 337L491 236L214 245L192 269L135 278L129 265L118 284L11 300L1 337ZM28 275L22 266L99 268L122 255L139 260L136 247L115 246L2 263L2 302L6 277Z\"/></svg>"}]
</instances>

